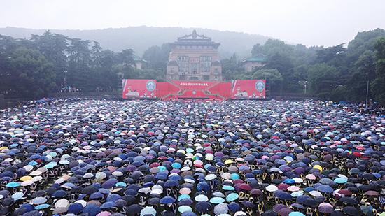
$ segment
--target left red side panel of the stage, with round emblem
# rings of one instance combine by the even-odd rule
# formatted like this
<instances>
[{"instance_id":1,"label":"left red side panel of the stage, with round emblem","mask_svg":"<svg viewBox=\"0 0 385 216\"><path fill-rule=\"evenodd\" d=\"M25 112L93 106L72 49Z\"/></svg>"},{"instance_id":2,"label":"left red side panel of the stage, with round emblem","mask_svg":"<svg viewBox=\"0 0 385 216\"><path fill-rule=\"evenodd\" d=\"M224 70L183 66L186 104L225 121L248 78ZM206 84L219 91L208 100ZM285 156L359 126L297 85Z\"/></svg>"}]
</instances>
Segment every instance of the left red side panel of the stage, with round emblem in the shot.
<instances>
[{"instance_id":1,"label":"left red side panel of the stage, with round emblem","mask_svg":"<svg viewBox=\"0 0 385 216\"><path fill-rule=\"evenodd\" d=\"M123 80L123 99L155 97L156 80Z\"/></svg>"}]
</instances>

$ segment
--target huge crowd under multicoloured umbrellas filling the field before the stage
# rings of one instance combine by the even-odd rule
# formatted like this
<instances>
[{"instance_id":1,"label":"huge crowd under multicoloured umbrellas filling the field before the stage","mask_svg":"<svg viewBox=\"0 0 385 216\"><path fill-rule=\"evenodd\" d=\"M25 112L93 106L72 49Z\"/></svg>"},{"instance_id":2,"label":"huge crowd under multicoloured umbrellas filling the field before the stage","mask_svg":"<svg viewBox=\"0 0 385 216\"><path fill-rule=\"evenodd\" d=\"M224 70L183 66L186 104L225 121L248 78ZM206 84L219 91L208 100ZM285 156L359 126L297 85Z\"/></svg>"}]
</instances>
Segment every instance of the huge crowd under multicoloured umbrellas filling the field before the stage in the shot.
<instances>
[{"instance_id":1,"label":"huge crowd under multicoloured umbrellas filling the field before the stage","mask_svg":"<svg viewBox=\"0 0 385 216\"><path fill-rule=\"evenodd\" d=\"M385 117L321 101L66 101L0 119L0 215L385 215Z\"/></svg>"}]
</instances>

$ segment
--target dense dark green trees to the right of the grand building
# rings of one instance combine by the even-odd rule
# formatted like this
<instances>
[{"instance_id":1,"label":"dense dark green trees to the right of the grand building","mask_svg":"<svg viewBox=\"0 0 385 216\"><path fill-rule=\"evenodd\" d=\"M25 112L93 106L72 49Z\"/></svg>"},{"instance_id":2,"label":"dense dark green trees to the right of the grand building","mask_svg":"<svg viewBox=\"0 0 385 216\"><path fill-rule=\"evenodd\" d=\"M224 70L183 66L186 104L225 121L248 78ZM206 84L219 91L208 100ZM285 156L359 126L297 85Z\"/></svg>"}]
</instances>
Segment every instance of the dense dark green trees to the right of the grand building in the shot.
<instances>
[{"instance_id":1,"label":"dense dark green trees to the right of the grand building","mask_svg":"<svg viewBox=\"0 0 385 216\"><path fill-rule=\"evenodd\" d=\"M253 46L251 55L264 57L264 66L245 73L233 55L223 59L226 79L264 79L272 94L304 93L335 101L365 101L385 104L385 30L360 32L349 42L329 48L290 45L269 39Z\"/></svg>"}]
</instances>

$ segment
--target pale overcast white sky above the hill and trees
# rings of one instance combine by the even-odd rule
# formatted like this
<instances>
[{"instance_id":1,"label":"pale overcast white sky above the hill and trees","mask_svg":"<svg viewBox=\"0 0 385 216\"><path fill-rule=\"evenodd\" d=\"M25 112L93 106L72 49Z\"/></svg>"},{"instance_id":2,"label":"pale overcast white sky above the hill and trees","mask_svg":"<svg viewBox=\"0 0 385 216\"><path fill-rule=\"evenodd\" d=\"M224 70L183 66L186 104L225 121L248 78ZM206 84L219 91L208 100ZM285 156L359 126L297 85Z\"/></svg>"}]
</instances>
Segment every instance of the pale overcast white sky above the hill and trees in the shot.
<instances>
[{"instance_id":1,"label":"pale overcast white sky above the hill and trees","mask_svg":"<svg viewBox=\"0 0 385 216\"><path fill-rule=\"evenodd\" d=\"M384 0L0 0L0 27L199 27L330 46L385 29L384 8Z\"/></svg>"}]
</instances>

